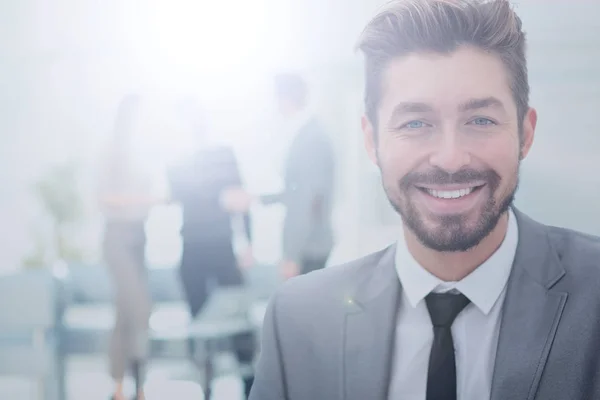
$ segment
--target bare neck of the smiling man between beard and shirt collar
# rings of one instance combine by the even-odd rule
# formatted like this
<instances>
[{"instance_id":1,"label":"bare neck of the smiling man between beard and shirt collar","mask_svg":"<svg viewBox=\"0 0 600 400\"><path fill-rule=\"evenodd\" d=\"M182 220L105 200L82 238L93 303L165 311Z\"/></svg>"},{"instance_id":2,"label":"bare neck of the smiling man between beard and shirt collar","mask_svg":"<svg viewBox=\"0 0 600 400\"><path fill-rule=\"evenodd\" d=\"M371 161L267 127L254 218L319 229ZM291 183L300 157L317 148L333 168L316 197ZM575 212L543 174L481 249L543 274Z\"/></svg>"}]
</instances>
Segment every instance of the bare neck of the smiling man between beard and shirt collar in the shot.
<instances>
[{"instance_id":1,"label":"bare neck of the smiling man between beard and shirt collar","mask_svg":"<svg viewBox=\"0 0 600 400\"><path fill-rule=\"evenodd\" d=\"M504 213L492 232L477 246L463 252L439 252L425 247L412 231L404 226L408 250L415 260L431 274L446 282L460 281L498 250L508 229L508 212Z\"/></svg>"}]
</instances>

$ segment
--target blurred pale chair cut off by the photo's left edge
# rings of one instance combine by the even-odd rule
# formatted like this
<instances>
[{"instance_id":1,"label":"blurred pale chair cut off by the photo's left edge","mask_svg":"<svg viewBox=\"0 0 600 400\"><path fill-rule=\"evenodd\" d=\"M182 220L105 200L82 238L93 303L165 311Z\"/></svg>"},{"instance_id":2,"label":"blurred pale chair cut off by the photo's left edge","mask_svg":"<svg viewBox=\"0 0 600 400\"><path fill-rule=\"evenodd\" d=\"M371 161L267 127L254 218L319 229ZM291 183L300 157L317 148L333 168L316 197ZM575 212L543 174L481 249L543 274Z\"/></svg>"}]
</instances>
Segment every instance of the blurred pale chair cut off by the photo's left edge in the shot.
<instances>
[{"instance_id":1,"label":"blurred pale chair cut off by the photo's left edge","mask_svg":"<svg viewBox=\"0 0 600 400\"><path fill-rule=\"evenodd\" d=\"M44 400L64 393L56 337L61 294L51 269L0 276L0 374L34 379Z\"/></svg>"}]
</instances>

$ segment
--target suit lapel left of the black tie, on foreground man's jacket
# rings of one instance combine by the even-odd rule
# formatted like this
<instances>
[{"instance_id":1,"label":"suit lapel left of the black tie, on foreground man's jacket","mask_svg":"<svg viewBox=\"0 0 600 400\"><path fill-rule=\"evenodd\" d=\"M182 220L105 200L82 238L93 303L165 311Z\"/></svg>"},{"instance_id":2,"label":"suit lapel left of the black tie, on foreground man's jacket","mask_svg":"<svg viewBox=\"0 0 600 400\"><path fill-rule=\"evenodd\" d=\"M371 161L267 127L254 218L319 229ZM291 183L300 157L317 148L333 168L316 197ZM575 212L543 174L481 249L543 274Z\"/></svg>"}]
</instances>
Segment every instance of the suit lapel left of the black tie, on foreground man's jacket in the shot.
<instances>
[{"instance_id":1,"label":"suit lapel left of the black tie, on foreground man's jacket","mask_svg":"<svg viewBox=\"0 0 600 400\"><path fill-rule=\"evenodd\" d=\"M344 400L386 400L400 284L395 247L383 253L347 302L344 330Z\"/></svg>"}]
</instances>

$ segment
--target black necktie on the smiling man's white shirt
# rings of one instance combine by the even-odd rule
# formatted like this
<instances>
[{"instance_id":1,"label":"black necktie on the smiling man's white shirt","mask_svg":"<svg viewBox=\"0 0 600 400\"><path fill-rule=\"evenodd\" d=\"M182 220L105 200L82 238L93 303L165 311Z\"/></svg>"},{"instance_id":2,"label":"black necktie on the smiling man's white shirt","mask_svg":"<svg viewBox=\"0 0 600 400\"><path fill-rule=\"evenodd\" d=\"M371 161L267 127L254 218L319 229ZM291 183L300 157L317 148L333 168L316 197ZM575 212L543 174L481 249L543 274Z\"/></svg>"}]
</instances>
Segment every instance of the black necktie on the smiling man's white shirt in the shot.
<instances>
[{"instance_id":1,"label":"black necktie on the smiling man's white shirt","mask_svg":"<svg viewBox=\"0 0 600 400\"><path fill-rule=\"evenodd\" d=\"M463 294L430 293L425 302L433 323L427 400L456 400L456 362L450 327L469 299Z\"/></svg>"}]
</instances>

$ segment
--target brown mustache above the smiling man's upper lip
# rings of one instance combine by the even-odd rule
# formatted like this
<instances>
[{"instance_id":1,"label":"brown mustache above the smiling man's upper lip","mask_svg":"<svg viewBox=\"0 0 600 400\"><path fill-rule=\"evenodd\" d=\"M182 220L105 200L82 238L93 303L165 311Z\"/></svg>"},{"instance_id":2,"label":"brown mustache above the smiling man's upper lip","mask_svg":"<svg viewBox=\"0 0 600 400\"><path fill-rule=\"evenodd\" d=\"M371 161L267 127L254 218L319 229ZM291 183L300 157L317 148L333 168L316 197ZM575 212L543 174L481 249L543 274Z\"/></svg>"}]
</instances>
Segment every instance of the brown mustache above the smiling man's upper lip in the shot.
<instances>
[{"instance_id":1,"label":"brown mustache above the smiling man's upper lip","mask_svg":"<svg viewBox=\"0 0 600 400\"><path fill-rule=\"evenodd\" d=\"M461 169L456 172L448 172L436 168L427 172L409 172L400 179L399 183L401 188L406 189L410 186L468 184L475 181L485 182L490 187L496 188L500 183L500 175L492 169L480 171Z\"/></svg>"}]
</instances>

